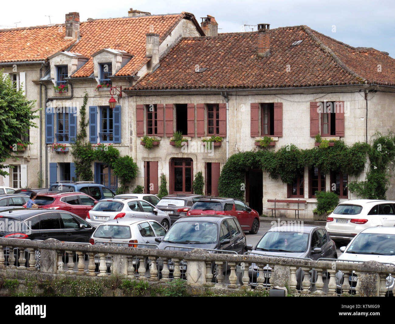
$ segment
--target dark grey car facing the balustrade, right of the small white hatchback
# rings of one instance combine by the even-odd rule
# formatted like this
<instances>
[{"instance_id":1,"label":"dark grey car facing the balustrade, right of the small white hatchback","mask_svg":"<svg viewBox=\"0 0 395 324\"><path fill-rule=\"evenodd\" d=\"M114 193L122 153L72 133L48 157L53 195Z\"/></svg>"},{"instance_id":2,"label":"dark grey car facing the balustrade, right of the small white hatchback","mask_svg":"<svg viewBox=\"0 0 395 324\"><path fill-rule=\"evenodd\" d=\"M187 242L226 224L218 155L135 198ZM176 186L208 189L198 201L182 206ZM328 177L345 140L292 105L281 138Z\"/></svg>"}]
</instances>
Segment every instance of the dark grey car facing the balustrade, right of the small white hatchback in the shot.
<instances>
[{"instance_id":1,"label":"dark grey car facing the balustrade, right of the small white hatchback","mask_svg":"<svg viewBox=\"0 0 395 324\"><path fill-rule=\"evenodd\" d=\"M223 250L224 253L237 254L243 254L248 250L246 237L239 222L236 218L226 215L182 217L170 227L162 240L156 241L160 243L159 249L162 250L190 251L193 248L202 248L218 250L218 253ZM168 261L168 267L173 273L173 261ZM180 261L180 271L182 277L185 277L186 262ZM215 280L218 266L213 264L212 271Z\"/></svg>"}]
</instances>

